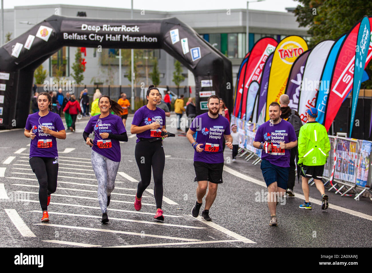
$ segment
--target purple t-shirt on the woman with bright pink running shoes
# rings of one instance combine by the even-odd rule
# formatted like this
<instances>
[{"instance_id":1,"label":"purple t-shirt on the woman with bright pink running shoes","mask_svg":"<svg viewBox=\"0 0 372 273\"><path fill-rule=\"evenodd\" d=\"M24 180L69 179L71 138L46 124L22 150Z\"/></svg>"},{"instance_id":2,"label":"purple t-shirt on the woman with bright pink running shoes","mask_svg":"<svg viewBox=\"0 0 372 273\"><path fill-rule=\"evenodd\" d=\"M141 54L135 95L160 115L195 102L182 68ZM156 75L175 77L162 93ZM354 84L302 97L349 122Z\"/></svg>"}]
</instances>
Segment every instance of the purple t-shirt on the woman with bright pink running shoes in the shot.
<instances>
[{"instance_id":1,"label":"purple t-shirt on the woman with bright pink running shoes","mask_svg":"<svg viewBox=\"0 0 372 273\"><path fill-rule=\"evenodd\" d=\"M146 130L142 133L137 134L137 142L140 141L140 137L144 139L152 139L154 137L161 137L161 129L165 124L165 112L163 109L156 107L155 110L150 110L146 105L142 106L134 113L132 120L133 125L145 126L158 121L160 127L157 130Z\"/></svg>"}]
</instances>

